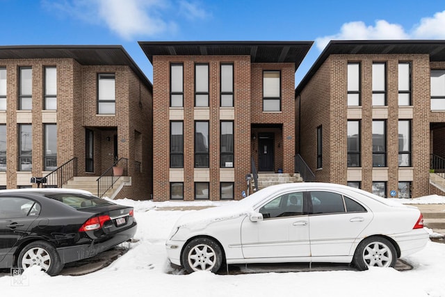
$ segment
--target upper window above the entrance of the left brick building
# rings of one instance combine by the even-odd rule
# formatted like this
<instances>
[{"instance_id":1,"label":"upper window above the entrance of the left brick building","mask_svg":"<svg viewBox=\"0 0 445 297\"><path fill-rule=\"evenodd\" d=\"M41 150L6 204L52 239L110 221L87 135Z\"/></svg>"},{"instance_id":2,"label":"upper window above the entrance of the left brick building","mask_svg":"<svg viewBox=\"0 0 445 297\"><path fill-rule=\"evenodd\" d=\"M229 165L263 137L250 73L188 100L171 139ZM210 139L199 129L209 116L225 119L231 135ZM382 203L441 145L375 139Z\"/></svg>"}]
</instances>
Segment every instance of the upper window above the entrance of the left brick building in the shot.
<instances>
[{"instance_id":1,"label":"upper window above the entrance of the left brick building","mask_svg":"<svg viewBox=\"0 0 445 297\"><path fill-rule=\"evenodd\" d=\"M114 114L116 104L115 74L99 74L97 91L97 113Z\"/></svg>"}]
</instances>

